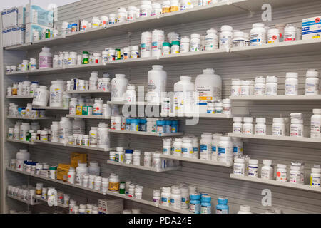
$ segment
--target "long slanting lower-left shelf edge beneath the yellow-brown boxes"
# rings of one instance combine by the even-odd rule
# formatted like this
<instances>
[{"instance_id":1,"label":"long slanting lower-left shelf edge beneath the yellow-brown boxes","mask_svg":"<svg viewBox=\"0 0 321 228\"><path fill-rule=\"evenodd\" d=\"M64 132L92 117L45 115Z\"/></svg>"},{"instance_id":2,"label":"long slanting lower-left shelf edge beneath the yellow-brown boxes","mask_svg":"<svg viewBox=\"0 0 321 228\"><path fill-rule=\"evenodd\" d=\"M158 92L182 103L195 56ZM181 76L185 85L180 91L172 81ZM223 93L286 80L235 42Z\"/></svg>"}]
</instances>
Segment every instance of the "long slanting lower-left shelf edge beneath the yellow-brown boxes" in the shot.
<instances>
[{"instance_id":1,"label":"long slanting lower-left shelf edge beneath the yellow-brown boxes","mask_svg":"<svg viewBox=\"0 0 321 228\"><path fill-rule=\"evenodd\" d=\"M82 189L82 190L87 190L89 192L96 192L96 193L101 194L101 195L112 195L114 197L128 199L128 200L131 200L133 202L138 202L138 203L141 203L141 204L146 204L146 205L150 205L150 206L156 207L156 205L152 201L148 201L146 199L134 199L133 197L128 197L126 195L119 194L118 192L108 191L108 192L104 193L104 192L101 192L101 191L98 191L98 190L93 190L93 189L88 188L88 187L83 187L81 185L74 185L74 184L70 184L68 182L63 182L62 180L55 180L55 179L51 179L49 177L43 177L43 176L39 176L39 175L31 175L31 173L29 173L29 172L18 171L18 170L9 168L9 167L7 167L6 170L9 170L10 172L17 172L17 173L22 174L22 175L28 175L28 176L31 176L31 177L36 177L36 178L39 178L39 179L42 179L42 180L48 180L50 182L56 182L56 183L61 184L61 185L67 185L67 186L70 186L70 187L76 187L76 188L79 188L79 189Z\"/></svg>"}]
</instances>

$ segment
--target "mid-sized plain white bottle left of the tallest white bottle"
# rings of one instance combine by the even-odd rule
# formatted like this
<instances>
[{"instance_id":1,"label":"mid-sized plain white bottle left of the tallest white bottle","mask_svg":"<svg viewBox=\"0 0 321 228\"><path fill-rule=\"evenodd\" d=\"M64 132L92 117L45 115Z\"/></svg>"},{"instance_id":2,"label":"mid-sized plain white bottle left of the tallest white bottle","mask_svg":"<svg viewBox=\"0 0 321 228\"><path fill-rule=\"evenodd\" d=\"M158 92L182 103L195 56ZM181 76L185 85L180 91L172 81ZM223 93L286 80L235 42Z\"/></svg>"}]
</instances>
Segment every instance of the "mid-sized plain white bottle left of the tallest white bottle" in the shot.
<instances>
[{"instance_id":1,"label":"mid-sized plain white bottle left of the tallest white bottle","mask_svg":"<svg viewBox=\"0 0 321 228\"><path fill-rule=\"evenodd\" d=\"M128 79L124 74L116 74L111 80L111 101L123 101L123 94L126 92Z\"/></svg>"}]
</instances>

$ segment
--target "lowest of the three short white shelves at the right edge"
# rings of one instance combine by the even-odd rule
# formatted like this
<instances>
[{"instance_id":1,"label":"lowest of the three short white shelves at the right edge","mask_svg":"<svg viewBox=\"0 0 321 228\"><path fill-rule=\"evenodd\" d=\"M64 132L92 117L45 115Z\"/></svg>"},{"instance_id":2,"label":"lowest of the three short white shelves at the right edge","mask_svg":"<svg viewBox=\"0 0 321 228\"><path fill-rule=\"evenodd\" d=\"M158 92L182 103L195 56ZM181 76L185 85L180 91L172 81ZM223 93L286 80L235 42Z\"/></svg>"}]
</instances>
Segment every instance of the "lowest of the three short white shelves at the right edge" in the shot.
<instances>
[{"instance_id":1,"label":"lowest of the three short white shelves at the right edge","mask_svg":"<svg viewBox=\"0 0 321 228\"><path fill-rule=\"evenodd\" d=\"M267 185L276 185L276 186L280 186L280 187L290 187L290 188L295 188L298 190L307 190L307 191L311 191L311 192L321 192L321 187L312 187L310 185L293 184L290 182L280 182L280 181L276 181L276 180L265 180L262 178L239 176L239 175L234 175L234 174L230 174L230 178L237 179L237 180L245 180L245 181L250 181L250 182L258 182L258 183L263 183L263 184L267 184Z\"/></svg>"}]
</instances>

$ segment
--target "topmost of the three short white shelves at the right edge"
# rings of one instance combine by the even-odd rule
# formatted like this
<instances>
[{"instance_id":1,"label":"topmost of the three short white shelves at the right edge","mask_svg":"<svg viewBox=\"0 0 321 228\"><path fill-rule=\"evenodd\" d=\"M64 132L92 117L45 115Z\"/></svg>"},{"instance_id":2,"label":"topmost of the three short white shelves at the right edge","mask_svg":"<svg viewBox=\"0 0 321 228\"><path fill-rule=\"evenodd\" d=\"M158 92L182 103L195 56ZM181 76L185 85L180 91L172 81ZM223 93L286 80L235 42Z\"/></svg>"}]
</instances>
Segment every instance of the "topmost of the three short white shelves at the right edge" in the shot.
<instances>
[{"instance_id":1,"label":"topmost of the three short white shelves at the right edge","mask_svg":"<svg viewBox=\"0 0 321 228\"><path fill-rule=\"evenodd\" d=\"M230 96L230 100L250 101L250 100L321 100L321 95L246 95L246 96Z\"/></svg>"}]
</instances>

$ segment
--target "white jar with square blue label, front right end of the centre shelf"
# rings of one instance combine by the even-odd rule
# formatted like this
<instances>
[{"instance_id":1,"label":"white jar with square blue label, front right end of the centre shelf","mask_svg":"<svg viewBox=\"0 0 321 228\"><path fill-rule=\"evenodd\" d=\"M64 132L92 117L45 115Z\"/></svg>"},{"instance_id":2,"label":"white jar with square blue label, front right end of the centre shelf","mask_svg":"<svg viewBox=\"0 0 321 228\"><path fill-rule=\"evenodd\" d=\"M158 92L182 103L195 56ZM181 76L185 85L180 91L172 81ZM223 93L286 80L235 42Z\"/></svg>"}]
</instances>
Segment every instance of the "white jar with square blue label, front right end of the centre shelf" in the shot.
<instances>
[{"instance_id":1,"label":"white jar with square blue label, front right end of the centre shelf","mask_svg":"<svg viewBox=\"0 0 321 228\"><path fill-rule=\"evenodd\" d=\"M220 136L220 142L218 142L218 162L233 165L233 142L228 136Z\"/></svg>"}]
</instances>

